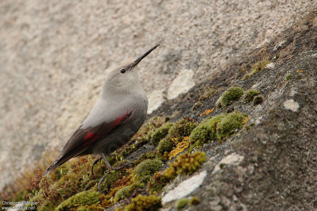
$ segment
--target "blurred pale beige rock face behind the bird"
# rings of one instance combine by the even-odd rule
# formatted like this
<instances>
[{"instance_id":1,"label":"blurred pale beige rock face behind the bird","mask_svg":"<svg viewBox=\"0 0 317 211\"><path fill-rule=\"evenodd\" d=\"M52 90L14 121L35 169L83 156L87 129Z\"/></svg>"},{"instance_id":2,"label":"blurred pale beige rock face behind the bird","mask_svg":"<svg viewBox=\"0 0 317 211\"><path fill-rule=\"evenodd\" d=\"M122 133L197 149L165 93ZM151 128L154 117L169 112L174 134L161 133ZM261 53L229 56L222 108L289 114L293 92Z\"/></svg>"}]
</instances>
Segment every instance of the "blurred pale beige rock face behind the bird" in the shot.
<instances>
[{"instance_id":1,"label":"blurred pale beige rock face behind the bird","mask_svg":"<svg viewBox=\"0 0 317 211\"><path fill-rule=\"evenodd\" d=\"M99 97L107 72L139 65L148 113L263 47L315 1L0 2L0 189L60 150Z\"/></svg>"}]
</instances>

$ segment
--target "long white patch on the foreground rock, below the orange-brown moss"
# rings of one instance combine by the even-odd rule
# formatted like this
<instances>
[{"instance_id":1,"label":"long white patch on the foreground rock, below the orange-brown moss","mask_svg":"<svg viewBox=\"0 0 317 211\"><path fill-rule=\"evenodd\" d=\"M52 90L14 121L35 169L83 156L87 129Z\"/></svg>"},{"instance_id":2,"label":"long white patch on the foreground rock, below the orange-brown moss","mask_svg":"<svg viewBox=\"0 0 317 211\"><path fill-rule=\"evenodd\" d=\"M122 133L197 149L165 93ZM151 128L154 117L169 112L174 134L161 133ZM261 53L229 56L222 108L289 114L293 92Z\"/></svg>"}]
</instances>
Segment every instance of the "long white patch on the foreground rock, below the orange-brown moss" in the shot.
<instances>
[{"instance_id":1,"label":"long white patch on the foreground rock, below the orange-brown moss","mask_svg":"<svg viewBox=\"0 0 317 211\"><path fill-rule=\"evenodd\" d=\"M168 202L181 199L185 197L186 195L191 194L194 190L196 190L204 181L204 178L207 175L207 171L202 171L197 175L194 175L183 182L179 183L179 185L168 191L163 197L162 197L162 203L166 204Z\"/></svg>"}]
</instances>

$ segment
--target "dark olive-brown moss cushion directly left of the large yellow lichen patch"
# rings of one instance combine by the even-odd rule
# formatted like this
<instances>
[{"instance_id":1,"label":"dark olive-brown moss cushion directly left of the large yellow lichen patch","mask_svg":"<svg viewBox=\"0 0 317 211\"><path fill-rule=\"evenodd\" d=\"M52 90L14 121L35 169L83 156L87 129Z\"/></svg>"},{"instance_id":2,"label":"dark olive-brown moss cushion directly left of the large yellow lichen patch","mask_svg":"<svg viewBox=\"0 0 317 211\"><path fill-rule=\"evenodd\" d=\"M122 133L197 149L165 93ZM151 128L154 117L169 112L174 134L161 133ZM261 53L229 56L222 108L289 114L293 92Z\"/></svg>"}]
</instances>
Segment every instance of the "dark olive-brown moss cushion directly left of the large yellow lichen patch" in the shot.
<instances>
[{"instance_id":1,"label":"dark olive-brown moss cushion directly left of the large yellow lichen patch","mask_svg":"<svg viewBox=\"0 0 317 211\"><path fill-rule=\"evenodd\" d=\"M191 131L197 126L197 123L191 119L183 118L173 124L167 136L160 140L157 147L158 152L163 155L164 152L170 152L176 144L185 136L189 136Z\"/></svg>"}]
</instances>

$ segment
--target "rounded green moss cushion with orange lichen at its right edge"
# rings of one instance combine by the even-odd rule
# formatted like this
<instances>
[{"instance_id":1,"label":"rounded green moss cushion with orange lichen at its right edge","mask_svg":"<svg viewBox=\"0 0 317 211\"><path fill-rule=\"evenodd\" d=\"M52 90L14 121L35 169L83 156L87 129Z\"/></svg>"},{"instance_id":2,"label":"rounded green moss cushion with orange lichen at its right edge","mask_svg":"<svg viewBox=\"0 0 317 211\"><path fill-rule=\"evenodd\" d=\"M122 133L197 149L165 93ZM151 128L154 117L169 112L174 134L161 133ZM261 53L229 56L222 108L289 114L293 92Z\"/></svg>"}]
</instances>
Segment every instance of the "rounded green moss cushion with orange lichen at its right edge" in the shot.
<instances>
[{"instance_id":1,"label":"rounded green moss cushion with orange lichen at its right edge","mask_svg":"<svg viewBox=\"0 0 317 211\"><path fill-rule=\"evenodd\" d=\"M233 134L236 129L241 128L247 116L248 115L245 113L238 112L232 112L228 114L217 124L218 139L229 136Z\"/></svg>"}]
</instances>

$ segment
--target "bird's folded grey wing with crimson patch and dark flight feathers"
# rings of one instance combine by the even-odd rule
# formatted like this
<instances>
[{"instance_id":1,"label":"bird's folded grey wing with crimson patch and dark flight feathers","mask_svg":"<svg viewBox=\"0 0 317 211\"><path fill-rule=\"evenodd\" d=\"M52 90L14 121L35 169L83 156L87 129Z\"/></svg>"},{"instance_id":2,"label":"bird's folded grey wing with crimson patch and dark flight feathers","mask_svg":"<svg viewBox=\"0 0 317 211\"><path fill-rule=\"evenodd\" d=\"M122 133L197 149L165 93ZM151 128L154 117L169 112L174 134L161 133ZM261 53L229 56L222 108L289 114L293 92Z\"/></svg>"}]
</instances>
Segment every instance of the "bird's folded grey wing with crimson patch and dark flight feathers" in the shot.
<instances>
[{"instance_id":1,"label":"bird's folded grey wing with crimson patch and dark flight feathers","mask_svg":"<svg viewBox=\"0 0 317 211\"><path fill-rule=\"evenodd\" d=\"M100 140L117 125L125 123L134 110L132 105L117 105L112 108L107 108L107 105L109 103L102 101L96 103L86 120L66 142L57 158L44 171L43 176L85 151L92 143Z\"/></svg>"}]
</instances>

